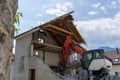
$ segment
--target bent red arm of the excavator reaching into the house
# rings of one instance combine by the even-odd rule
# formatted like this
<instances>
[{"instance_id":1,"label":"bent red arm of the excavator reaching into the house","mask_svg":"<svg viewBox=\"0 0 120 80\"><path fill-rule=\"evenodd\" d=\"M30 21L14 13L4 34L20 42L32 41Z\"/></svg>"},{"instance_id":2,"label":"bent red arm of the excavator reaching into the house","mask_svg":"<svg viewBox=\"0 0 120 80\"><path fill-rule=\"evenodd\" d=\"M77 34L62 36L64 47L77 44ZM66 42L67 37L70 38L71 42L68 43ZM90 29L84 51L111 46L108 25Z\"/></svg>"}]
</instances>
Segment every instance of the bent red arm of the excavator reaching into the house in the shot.
<instances>
[{"instance_id":1,"label":"bent red arm of the excavator reaching into the house","mask_svg":"<svg viewBox=\"0 0 120 80\"><path fill-rule=\"evenodd\" d=\"M62 66L67 64L68 57L70 55L70 49L74 50L76 53L82 55L86 50L81 46L74 43L70 36L66 37L62 50Z\"/></svg>"}]
</instances>

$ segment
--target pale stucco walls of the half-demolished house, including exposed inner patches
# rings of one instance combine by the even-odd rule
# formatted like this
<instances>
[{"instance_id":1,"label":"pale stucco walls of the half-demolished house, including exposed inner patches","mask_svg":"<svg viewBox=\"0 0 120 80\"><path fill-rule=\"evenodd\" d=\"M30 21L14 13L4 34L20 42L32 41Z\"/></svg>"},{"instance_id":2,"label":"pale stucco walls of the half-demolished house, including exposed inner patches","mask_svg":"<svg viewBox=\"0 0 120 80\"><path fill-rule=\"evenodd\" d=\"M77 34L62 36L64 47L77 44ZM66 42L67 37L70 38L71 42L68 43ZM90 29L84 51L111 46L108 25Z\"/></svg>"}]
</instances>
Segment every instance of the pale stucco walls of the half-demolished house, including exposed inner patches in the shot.
<instances>
[{"instance_id":1,"label":"pale stucco walls of the half-demolished house, including exposed inner patches","mask_svg":"<svg viewBox=\"0 0 120 80\"><path fill-rule=\"evenodd\" d=\"M10 80L29 80L29 70L35 69L35 80L54 80L55 75L46 64L58 64L58 54L45 52L45 63L43 63L43 54L39 56L30 56L32 35L26 35L16 40L15 61L11 64ZM52 38L47 35L45 42L48 44L56 44ZM39 51L41 53L41 51ZM20 69L20 60L24 56L24 70ZM46 77L47 76L47 77Z\"/></svg>"}]
</instances>

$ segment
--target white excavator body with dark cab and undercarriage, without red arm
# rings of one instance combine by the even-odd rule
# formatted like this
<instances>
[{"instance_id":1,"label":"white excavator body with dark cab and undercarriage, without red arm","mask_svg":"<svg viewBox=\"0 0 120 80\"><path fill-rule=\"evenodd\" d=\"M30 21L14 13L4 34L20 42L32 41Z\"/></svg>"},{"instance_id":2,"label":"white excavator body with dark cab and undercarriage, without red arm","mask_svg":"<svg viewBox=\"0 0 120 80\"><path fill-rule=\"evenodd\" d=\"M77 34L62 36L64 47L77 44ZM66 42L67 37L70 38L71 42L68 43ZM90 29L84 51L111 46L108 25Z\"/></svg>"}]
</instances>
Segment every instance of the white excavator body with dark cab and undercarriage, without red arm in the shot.
<instances>
[{"instance_id":1,"label":"white excavator body with dark cab and undercarriage, without red arm","mask_svg":"<svg viewBox=\"0 0 120 80\"><path fill-rule=\"evenodd\" d=\"M109 75L109 71L112 69L112 62L104 56L103 49L84 52L81 64L82 68L87 70L90 80L120 80L118 76L107 76Z\"/></svg>"}]
</instances>

